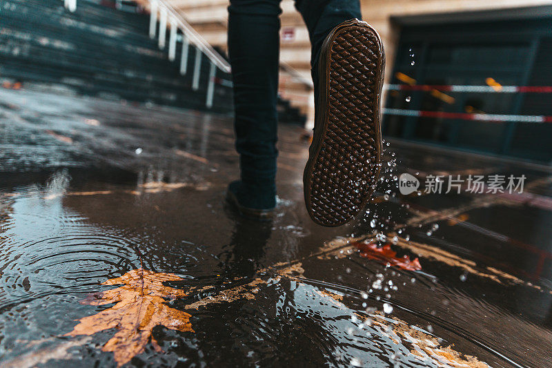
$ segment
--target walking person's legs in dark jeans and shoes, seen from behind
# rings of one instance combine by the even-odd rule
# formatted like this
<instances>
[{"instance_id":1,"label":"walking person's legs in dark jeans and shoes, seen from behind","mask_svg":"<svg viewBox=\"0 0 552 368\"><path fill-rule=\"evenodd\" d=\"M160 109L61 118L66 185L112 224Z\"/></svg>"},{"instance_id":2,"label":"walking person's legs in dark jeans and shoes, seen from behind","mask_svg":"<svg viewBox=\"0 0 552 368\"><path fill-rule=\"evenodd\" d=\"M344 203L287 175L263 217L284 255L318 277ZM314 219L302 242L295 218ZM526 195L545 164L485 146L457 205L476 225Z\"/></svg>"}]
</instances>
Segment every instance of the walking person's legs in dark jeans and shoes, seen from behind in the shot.
<instances>
[{"instance_id":1,"label":"walking person's legs in dark jeans and shoes, seen from behind","mask_svg":"<svg viewBox=\"0 0 552 368\"><path fill-rule=\"evenodd\" d=\"M280 0L230 0L232 66L240 180L227 199L242 215L273 217L276 206ZM385 66L377 32L358 0L296 0L311 40L315 126L304 171L311 218L324 226L351 220L368 202L380 172L380 97Z\"/></svg>"}]
</instances>

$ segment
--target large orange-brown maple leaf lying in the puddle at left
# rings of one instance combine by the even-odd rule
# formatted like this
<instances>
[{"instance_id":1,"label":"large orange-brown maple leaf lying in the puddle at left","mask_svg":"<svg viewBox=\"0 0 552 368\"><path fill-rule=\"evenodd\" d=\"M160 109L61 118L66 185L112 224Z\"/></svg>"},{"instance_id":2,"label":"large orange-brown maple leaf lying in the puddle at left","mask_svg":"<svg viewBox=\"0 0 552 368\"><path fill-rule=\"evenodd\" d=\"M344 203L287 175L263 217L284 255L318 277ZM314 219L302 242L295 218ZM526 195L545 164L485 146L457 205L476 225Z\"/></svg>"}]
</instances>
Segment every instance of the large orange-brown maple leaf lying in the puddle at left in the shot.
<instances>
[{"instance_id":1,"label":"large orange-brown maple leaf lying in the puddle at left","mask_svg":"<svg viewBox=\"0 0 552 368\"><path fill-rule=\"evenodd\" d=\"M81 318L75 328L66 336L93 335L106 329L118 329L115 336L103 345L103 351L112 351L119 367L129 362L151 340L153 347L161 347L152 337L152 329L163 325L177 331L191 331L190 314L170 308L165 298L182 298L186 291L166 287L163 282L183 280L171 273L155 273L134 269L120 278L112 278L103 285L121 285L117 289L102 291L86 298L81 303L104 305L117 303L113 307L93 316Z\"/></svg>"}]
</instances>

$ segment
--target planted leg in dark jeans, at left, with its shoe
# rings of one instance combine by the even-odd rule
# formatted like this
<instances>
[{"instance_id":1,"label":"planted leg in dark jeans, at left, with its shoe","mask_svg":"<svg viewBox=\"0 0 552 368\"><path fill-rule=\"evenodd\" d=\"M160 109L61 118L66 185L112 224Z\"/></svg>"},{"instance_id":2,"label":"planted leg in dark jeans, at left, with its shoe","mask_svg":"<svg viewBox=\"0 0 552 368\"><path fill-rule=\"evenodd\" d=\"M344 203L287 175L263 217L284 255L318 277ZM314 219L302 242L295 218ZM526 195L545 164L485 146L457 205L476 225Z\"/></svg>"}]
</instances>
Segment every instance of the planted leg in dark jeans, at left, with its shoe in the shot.
<instances>
[{"instance_id":1,"label":"planted leg in dark jeans, at left, with its shoe","mask_svg":"<svg viewBox=\"0 0 552 368\"><path fill-rule=\"evenodd\" d=\"M279 0L230 0L228 7L228 55L242 179L230 190L239 204L253 209L275 206L281 12Z\"/></svg>"}]
</instances>

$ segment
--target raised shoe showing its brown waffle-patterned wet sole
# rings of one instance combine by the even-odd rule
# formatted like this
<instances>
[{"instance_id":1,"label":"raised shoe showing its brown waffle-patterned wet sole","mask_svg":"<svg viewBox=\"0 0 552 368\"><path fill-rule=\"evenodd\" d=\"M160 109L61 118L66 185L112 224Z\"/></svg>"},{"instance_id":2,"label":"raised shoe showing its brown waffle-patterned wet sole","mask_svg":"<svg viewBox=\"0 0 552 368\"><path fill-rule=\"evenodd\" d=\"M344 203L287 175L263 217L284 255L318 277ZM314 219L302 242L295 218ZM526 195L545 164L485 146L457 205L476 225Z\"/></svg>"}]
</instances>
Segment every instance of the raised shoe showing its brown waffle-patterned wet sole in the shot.
<instances>
[{"instance_id":1,"label":"raised shoe showing its brown waffle-patterned wet sole","mask_svg":"<svg viewBox=\"0 0 552 368\"><path fill-rule=\"evenodd\" d=\"M322 44L313 143L303 176L306 208L317 224L345 224L375 189L384 67L380 36L364 21L339 24Z\"/></svg>"}]
</instances>

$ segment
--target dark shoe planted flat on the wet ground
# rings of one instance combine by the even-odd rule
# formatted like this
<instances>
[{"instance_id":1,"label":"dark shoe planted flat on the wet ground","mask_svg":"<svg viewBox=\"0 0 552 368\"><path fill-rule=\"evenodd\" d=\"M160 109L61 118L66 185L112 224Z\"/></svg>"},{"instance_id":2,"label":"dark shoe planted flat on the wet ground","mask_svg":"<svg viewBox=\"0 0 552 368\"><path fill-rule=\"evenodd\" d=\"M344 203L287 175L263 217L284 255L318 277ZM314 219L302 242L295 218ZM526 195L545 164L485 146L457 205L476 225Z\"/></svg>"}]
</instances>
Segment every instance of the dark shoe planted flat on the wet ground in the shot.
<instances>
[{"instance_id":1,"label":"dark shoe planted flat on the wet ground","mask_svg":"<svg viewBox=\"0 0 552 368\"><path fill-rule=\"evenodd\" d=\"M248 184L237 180L228 184L226 201L246 218L270 221L276 209L276 186Z\"/></svg>"}]
</instances>

